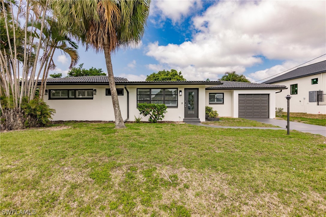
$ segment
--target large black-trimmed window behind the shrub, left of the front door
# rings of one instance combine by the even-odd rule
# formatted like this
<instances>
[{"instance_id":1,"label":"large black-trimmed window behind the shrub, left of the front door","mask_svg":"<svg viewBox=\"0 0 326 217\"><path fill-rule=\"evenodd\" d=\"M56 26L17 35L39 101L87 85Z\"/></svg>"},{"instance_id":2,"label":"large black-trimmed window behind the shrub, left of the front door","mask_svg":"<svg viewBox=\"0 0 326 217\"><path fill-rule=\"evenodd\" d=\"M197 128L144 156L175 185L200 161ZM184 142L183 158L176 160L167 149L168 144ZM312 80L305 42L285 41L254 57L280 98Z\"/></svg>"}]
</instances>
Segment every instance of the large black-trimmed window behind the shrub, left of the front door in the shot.
<instances>
[{"instance_id":1,"label":"large black-trimmed window behind the shrub, left of the front door","mask_svg":"<svg viewBox=\"0 0 326 217\"><path fill-rule=\"evenodd\" d=\"M178 107L178 88L138 88L138 103L165 104L167 107Z\"/></svg>"}]
</instances>

